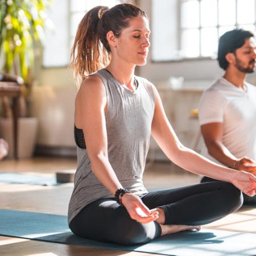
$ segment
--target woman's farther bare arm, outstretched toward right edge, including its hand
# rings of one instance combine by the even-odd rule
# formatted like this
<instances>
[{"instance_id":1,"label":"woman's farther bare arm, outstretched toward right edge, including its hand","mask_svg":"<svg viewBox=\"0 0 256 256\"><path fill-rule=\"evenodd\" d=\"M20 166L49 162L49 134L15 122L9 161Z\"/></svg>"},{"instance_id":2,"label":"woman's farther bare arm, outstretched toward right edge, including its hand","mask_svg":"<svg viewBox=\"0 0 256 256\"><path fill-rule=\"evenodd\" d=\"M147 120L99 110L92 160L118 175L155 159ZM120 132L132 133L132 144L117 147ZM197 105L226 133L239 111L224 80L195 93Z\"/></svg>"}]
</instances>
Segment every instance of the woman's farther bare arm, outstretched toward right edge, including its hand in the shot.
<instances>
[{"instance_id":1,"label":"woman's farther bare arm, outstretched toward right edge, including its hand","mask_svg":"<svg viewBox=\"0 0 256 256\"><path fill-rule=\"evenodd\" d=\"M195 174L231 182L247 194L252 195L252 193L255 193L256 177L254 175L220 166L183 146L164 113L162 101L155 87L154 93L155 113L152 121L151 134L172 162Z\"/></svg>"}]
</instances>

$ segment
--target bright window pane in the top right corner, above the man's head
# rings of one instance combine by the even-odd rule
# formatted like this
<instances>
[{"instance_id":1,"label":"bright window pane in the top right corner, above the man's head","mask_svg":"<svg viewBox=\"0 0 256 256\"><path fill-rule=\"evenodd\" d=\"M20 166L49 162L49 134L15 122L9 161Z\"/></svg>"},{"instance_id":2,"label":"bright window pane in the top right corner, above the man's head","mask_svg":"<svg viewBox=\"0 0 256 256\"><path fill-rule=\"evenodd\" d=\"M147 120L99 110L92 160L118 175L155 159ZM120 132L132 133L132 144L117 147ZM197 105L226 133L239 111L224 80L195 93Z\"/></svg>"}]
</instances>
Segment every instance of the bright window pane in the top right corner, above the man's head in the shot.
<instances>
[{"instance_id":1,"label":"bright window pane in the top right corner, above the man's head","mask_svg":"<svg viewBox=\"0 0 256 256\"><path fill-rule=\"evenodd\" d=\"M237 0L237 23L251 24L254 23L254 0Z\"/></svg>"}]
</instances>

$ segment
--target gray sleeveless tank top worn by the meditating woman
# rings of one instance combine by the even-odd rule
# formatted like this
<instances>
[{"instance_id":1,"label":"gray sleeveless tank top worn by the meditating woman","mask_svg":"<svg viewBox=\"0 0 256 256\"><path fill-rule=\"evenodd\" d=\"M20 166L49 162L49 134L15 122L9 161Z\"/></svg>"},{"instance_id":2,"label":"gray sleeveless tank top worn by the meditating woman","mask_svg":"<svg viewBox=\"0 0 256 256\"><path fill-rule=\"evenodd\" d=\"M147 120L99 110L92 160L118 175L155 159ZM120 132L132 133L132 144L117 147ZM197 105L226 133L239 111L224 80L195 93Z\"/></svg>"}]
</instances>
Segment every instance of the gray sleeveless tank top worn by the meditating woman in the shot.
<instances>
[{"instance_id":1,"label":"gray sleeveless tank top worn by the meditating woman","mask_svg":"<svg viewBox=\"0 0 256 256\"><path fill-rule=\"evenodd\" d=\"M105 85L107 96L106 131L109 162L124 188L136 195L147 193L142 176L150 144L155 109L152 84L135 76L138 87L131 91L101 69L94 73ZM86 134L85 134L86 143ZM69 202L68 222L89 203L113 197L93 174L86 148L77 147L75 186Z\"/></svg>"}]
</instances>

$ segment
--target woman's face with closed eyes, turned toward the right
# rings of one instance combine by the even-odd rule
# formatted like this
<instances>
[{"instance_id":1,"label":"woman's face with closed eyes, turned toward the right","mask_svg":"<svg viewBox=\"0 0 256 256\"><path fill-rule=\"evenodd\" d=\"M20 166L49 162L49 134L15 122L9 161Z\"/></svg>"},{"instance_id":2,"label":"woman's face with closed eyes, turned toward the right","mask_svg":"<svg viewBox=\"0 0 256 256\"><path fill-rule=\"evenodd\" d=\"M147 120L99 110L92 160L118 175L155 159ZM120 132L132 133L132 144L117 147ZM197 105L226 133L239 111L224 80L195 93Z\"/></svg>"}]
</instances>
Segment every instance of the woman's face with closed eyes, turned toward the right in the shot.
<instances>
[{"instance_id":1,"label":"woman's face with closed eyes, turned toward the right","mask_svg":"<svg viewBox=\"0 0 256 256\"><path fill-rule=\"evenodd\" d=\"M116 47L112 53L127 63L145 65L150 47L148 20L139 15L132 18L129 24L129 27L122 30L119 38L116 38Z\"/></svg>"}]
</instances>

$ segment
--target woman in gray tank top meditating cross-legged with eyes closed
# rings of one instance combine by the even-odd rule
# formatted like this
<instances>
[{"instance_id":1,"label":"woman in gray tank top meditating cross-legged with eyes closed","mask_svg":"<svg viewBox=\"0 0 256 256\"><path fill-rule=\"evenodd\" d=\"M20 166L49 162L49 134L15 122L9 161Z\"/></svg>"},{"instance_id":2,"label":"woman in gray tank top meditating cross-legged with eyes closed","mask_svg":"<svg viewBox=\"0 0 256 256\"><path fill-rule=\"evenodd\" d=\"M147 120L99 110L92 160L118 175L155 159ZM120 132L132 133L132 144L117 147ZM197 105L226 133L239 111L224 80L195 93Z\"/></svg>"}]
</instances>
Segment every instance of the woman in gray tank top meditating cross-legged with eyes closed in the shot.
<instances>
[{"instance_id":1,"label":"woman in gray tank top meditating cross-legged with eyes closed","mask_svg":"<svg viewBox=\"0 0 256 256\"><path fill-rule=\"evenodd\" d=\"M72 65L83 81L75 102L78 166L68 211L77 236L131 245L199 230L240 208L240 190L255 193L255 176L184 147L155 86L134 76L135 66L146 64L149 36L146 14L130 4L95 7L79 24ZM228 182L147 192L142 175L150 135L172 162Z\"/></svg>"}]
</instances>

